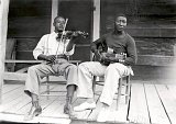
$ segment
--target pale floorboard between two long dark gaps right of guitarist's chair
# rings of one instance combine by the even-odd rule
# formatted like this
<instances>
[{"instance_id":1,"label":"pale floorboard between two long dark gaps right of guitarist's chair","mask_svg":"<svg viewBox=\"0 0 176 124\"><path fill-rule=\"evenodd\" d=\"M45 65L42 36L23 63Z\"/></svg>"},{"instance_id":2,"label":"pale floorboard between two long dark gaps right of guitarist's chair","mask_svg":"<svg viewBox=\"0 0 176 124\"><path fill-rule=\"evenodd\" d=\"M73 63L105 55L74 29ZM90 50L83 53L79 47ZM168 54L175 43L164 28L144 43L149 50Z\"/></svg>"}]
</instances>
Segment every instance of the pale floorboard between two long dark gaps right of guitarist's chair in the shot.
<instances>
[{"instance_id":1,"label":"pale floorboard between two long dark gaps right of guitarist's chair","mask_svg":"<svg viewBox=\"0 0 176 124\"><path fill-rule=\"evenodd\" d=\"M152 124L170 124L154 84L144 84Z\"/></svg>"}]
</instances>

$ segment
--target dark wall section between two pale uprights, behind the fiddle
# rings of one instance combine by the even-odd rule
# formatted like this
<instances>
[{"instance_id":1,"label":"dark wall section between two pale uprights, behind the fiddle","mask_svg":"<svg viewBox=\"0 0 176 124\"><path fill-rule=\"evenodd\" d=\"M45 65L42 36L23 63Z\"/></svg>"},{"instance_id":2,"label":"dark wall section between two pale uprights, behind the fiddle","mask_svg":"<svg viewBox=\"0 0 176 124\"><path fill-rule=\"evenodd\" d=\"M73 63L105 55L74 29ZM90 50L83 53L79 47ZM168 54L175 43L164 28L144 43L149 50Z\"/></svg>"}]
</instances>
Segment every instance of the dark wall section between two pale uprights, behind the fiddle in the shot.
<instances>
[{"instance_id":1,"label":"dark wall section between two pale uprights, behind the fiddle","mask_svg":"<svg viewBox=\"0 0 176 124\"><path fill-rule=\"evenodd\" d=\"M63 0L59 2L58 14L68 19L66 30L81 31L89 34L87 38L80 37L78 40L73 59L90 60L92 5L92 0Z\"/></svg>"}]
</instances>

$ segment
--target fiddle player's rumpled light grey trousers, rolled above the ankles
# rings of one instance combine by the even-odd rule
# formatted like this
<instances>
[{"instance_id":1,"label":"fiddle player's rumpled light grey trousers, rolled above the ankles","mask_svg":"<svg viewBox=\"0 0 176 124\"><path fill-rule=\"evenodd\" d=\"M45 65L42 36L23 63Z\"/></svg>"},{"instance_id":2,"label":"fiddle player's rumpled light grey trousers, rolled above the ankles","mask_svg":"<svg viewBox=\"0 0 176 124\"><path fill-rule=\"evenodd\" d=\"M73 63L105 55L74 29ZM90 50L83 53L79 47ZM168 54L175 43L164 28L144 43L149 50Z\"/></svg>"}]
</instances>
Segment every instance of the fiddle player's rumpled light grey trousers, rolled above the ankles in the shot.
<instances>
[{"instance_id":1,"label":"fiddle player's rumpled light grey trousers, rolled above the ankles","mask_svg":"<svg viewBox=\"0 0 176 124\"><path fill-rule=\"evenodd\" d=\"M57 70L56 70L56 67L57 67ZM63 76L67 80L66 87L68 84L77 86L78 69L76 65L68 64L68 65L65 65L65 68L63 69L63 66L62 68L59 68L59 65L51 66L51 65L40 64L40 65L31 66L29 68L24 92L30 97L31 97L31 93L38 95L41 78L44 78L47 75L58 74L61 69L62 71L64 70Z\"/></svg>"}]
</instances>

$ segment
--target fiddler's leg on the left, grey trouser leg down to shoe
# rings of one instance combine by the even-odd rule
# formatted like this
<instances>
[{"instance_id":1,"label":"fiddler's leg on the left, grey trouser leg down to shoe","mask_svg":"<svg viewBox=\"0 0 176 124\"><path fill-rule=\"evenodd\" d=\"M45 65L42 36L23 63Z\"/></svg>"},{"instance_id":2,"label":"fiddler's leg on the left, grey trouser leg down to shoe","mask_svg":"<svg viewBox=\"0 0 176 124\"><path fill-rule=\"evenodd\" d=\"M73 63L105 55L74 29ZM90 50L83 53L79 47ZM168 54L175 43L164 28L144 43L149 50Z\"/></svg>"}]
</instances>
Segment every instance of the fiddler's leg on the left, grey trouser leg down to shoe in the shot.
<instances>
[{"instance_id":1,"label":"fiddler's leg on the left, grey trouser leg down to shoe","mask_svg":"<svg viewBox=\"0 0 176 124\"><path fill-rule=\"evenodd\" d=\"M38 103L40 79L54 72L48 65L35 65L29 68L24 92L32 99L32 108L24 120L32 120L42 112Z\"/></svg>"}]
</instances>

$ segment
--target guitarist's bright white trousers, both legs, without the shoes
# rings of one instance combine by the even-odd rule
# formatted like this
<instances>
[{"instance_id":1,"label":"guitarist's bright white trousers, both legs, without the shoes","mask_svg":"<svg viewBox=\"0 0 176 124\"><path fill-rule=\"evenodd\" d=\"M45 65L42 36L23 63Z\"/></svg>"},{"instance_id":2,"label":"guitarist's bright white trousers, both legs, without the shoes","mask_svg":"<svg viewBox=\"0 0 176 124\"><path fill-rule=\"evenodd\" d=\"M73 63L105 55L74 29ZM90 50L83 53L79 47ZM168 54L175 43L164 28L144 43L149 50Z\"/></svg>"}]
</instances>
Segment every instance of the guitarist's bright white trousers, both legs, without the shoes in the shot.
<instances>
[{"instance_id":1,"label":"guitarist's bright white trousers, both legs, without the shoes","mask_svg":"<svg viewBox=\"0 0 176 124\"><path fill-rule=\"evenodd\" d=\"M78 67L77 97L94 98L92 76L105 76L105 86L100 102L111 105L119 79L130 74L133 75L131 67L120 63L110 64L109 66L103 66L99 61L82 63Z\"/></svg>"}]
</instances>

